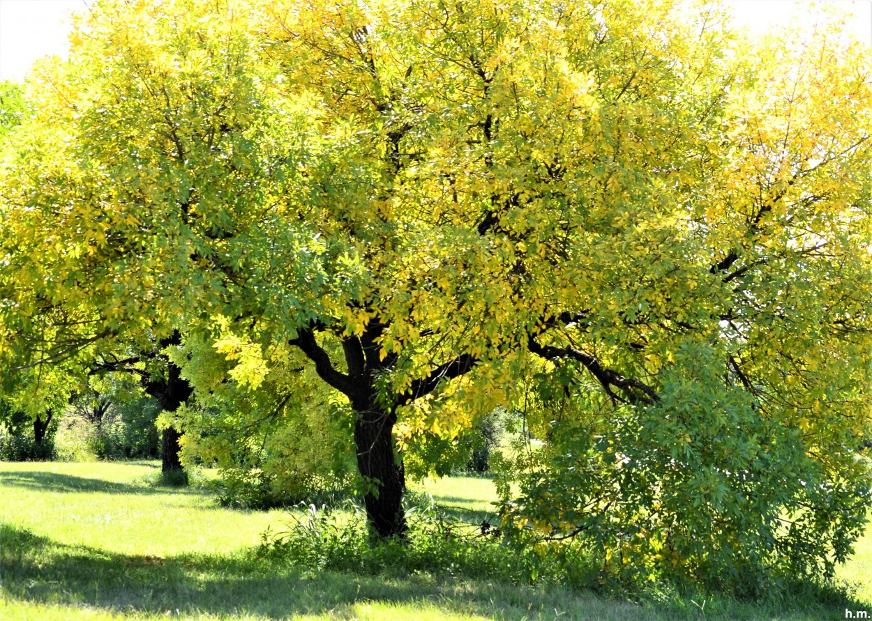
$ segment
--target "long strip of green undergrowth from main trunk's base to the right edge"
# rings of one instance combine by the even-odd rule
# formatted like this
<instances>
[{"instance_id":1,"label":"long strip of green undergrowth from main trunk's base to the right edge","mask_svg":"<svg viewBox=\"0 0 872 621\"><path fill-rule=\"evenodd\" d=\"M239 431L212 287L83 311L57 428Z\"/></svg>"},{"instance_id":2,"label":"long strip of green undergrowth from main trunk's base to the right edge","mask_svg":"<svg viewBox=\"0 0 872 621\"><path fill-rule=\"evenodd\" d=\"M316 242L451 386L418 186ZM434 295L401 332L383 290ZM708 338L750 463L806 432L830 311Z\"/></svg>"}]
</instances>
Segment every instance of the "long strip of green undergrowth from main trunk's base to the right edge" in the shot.
<instances>
[{"instance_id":1,"label":"long strip of green undergrowth from main trunk's base to the right edge","mask_svg":"<svg viewBox=\"0 0 872 621\"><path fill-rule=\"evenodd\" d=\"M773 580L753 597L705 591L665 579L628 582L605 569L602 559L576 541L519 541L487 520L471 523L447 514L433 497L410 494L406 503L409 530L404 539L380 539L366 523L356 501L317 506L301 503L288 529L262 534L255 557L287 563L315 576L324 570L382 577L424 575L487 580L503 584L555 586L580 593L593 591L635 603L682 609L689 602L710 611L729 611L730 602L802 609L846 606L855 589L835 580ZM803 604L805 603L805 604ZM691 612L688 610L688 612ZM705 609L697 611L704 613Z\"/></svg>"}]
</instances>

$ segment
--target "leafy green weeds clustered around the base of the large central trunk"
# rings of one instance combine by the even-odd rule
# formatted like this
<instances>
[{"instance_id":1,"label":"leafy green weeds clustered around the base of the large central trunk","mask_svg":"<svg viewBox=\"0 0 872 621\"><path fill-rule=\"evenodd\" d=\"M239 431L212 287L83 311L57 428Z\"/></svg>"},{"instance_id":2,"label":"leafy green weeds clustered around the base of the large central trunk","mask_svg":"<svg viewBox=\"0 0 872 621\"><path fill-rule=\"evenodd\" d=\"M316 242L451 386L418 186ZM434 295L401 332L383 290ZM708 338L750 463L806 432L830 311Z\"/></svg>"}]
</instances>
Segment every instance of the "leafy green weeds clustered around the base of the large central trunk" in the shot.
<instances>
[{"instance_id":1,"label":"leafy green weeds clustered around the base of the large central trunk","mask_svg":"<svg viewBox=\"0 0 872 621\"><path fill-rule=\"evenodd\" d=\"M353 499L333 506L301 503L303 511L288 530L263 533L255 555L310 572L426 574L577 588L596 580L594 565L570 545L562 554L554 554L553 547L517 545L487 520L470 523L440 511L431 496L410 495L410 501L403 539L374 536Z\"/></svg>"}]
</instances>

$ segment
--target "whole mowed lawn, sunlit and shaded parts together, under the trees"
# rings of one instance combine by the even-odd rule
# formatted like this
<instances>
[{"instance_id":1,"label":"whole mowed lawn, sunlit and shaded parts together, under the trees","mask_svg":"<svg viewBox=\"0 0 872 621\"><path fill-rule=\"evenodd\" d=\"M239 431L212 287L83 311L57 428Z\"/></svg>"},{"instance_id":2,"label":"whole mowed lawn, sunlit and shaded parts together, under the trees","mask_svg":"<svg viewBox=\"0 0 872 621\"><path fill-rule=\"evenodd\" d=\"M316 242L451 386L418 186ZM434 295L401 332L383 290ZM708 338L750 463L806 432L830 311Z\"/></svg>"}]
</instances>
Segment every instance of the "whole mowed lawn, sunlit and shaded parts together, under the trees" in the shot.
<instances>
[{"instance_id":1,"label":"whole mowed lawn, sunlit and shaded parts together, under the trees","mask_svg":"<svg viewBox=\"0 0 872 621\"><path fill-rule=\"evenodd\" d=\"M487 577L368 576L266 562L250 554L282 511L218 507L204 489L147 483L153 462L0 462L0 620L60 619L791 619L872 612L872 542L834 591L727 599L648 597L634 604ZM453 477L418 486L459 516L493 515L493 483Z\"/></svg>"}]
</instances>

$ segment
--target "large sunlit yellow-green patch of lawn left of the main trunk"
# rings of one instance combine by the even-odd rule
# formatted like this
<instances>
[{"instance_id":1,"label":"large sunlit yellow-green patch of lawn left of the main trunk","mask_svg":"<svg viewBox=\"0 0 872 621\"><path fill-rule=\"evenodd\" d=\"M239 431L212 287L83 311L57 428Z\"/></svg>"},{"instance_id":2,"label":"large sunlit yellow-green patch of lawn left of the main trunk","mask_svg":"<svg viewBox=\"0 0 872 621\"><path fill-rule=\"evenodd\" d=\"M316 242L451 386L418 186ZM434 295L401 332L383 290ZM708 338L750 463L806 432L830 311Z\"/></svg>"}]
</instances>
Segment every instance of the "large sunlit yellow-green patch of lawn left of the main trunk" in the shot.
<instances>
[{"instance_id":1,"label":"large sunlit yellow-green patch of lawn left of the main trunk","mask_svg":"<svg viewBox=\"0 0 872 621\"><path fill-rule=\"evenodd\" d=\"M255 545L284 511L222 509L205 489L144 483L157 462L0 462L0 522L58 543L129 554L223 553Z\"/></svg>"}]
</instances>

